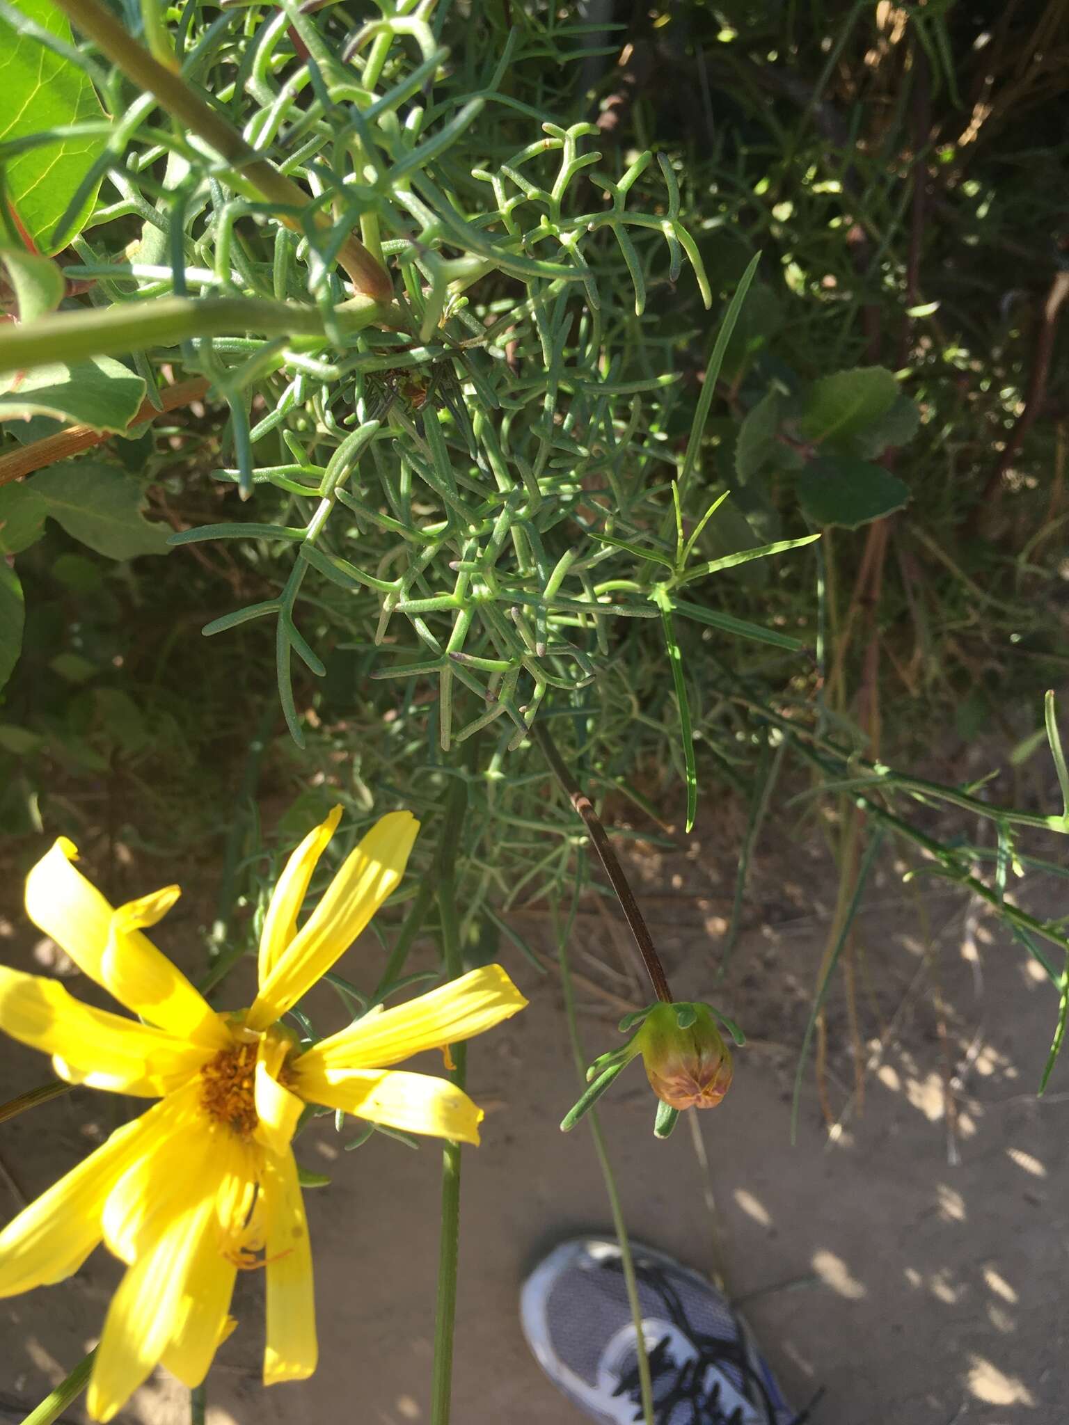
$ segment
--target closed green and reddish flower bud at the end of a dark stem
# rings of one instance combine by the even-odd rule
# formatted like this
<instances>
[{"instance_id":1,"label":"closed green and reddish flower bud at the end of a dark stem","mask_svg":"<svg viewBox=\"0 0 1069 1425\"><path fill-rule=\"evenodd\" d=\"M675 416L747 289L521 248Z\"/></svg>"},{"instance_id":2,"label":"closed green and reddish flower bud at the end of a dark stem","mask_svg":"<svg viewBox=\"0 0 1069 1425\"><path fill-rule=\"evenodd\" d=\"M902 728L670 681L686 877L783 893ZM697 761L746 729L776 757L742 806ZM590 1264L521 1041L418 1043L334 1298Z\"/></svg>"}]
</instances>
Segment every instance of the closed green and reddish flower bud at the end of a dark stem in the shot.
<instances>
[{"instance_id":1,"label":"closed green and reddish flower bud at the end of a dark stem","mask_svg":"<svg viewBox=\"0 0 1069 1425\"><path fill-rule=\"evenodd\" d=\"M650 1087L673 1109L714 1109L731 1087L731 1053L707 1005L657 1005L634 1043Z\"/></svg>"}]
</instances>

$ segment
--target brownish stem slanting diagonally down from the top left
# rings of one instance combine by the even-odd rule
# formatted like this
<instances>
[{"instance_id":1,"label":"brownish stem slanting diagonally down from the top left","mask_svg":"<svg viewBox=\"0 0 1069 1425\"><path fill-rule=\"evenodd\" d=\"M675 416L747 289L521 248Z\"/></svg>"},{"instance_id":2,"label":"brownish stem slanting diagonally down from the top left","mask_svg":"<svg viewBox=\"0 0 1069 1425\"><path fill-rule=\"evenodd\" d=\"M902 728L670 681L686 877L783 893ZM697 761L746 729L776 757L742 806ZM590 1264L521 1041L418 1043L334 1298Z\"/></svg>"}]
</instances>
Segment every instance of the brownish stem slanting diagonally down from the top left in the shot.
<instances>
[{"instance_id":1,"label":"brownish stem slanting diagonally down from the top left","mask_svg":"<svg viewBox=\"0 0 1069 1425\"><path fill-rule=\"evenodd\" d=\"M295 232L304 231L298 214L311 204L309 194L249 148L222 114L205 104L180 74L161 64L131 38L97 0L56 0L56 3L128 80L154 94L171 118L211 144L245 180L252 197L267 198L284 209L296 208L298 212L279 212L279 219ZM316 212L314 221L321 229L329 231L334 227L322 212ZM393 284L389 274L352 234L338 249L338 262L349 274L358 292L379 302L391 301Z\"/></svg>"}]
</instances>

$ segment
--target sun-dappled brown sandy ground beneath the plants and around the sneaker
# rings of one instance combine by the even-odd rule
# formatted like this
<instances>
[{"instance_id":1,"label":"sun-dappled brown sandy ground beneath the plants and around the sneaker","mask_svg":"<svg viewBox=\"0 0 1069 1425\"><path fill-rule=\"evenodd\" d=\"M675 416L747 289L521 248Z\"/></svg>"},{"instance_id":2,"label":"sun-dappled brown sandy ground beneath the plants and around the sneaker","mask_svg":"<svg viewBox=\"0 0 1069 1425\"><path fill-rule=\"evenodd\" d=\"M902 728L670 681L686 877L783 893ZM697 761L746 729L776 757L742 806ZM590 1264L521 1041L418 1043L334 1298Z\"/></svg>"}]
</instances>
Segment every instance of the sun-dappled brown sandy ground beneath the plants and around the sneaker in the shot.
<instances>
[{"instance_id":1,"label":"sun-dappled brown sandy ground beneath the plants and around the sneaker","mask_svg":"<svg viewBox=\"0 0 1069 1425\"><path fill-rule=\"evenodd\" d=\"M1069 1060L1038 1102L1056 1002L1023 952L934 882L915 892L924 895L926 935L888 865L858 936L862 1032L871 1036L864 1113L852 1097L837 993L828 1092L840 1129L830 1139L810 1073L792 1147L795 1054L834 899L822 855L785 842L761 859L750 929L721 990L714 968L730 859L698 839L687 858L653 858L644 869L677 996L716 995L753 1043L738 1056L725 1103L701 1117L707 1171L686 1119L667 1143L653 1139L653 1100L639 1066L603 1100L636 1237L704 1270L723 1264L792 1399L801 1405L824 1387L815 1425L1069 1419ZM1019 895L1059 913L1053 899L1043 903L1035 892L1029 899L1028 886ZM522 928L547 946L537 916ZM182 939L188 922L161 943L181 959ZM634 998L620 945L589 906L573 955L596 986L580 986L592 1056L616 1042L619 1009L606 996ZM33 956L47 958L47 945L11 933L4 953L38 968ZM365 978L362 953L371 952L358 946L349 955L355 978ZM510 968L532 1006L480 1040L469 1060L470 1092L489 1112L483 1146L466 1150L463 1163L453 1419L579 1425L582 1416L527 1354L516 1294L539 1248L604 1227L607 1208L589 1136L557 1130L576 1094L559 982L539 979L522 960ZM932 1007L935 973L944 1037ZM84 989L81 978L68 983ZM241 999L237 988L234 998ZM0 1097L46 1077L40 1056L7 1042L0 1053ZM121 1107L77 1092L4 1124L0 1220L98 1141ZM379 1136L352 1154L338 1143L321 1121L298 1154L334 1177L331 1187L308 1193L319 1369L309 1382L262 1389L262 1285L257 1274L244 1275L235 1301L241 1325L208 1381L211 1425L429 1418L439 1151L425 1143L413 1153ZM115 1280L117 1264L98 1251L67 1287L0 1304L3 1418L20 1419L93 1344ZM158 1372L121 1419L177 1425L188 1419L187 1399ZM64 1418L84 1415L74 1408Z\"/></svg>"}]
</instances>

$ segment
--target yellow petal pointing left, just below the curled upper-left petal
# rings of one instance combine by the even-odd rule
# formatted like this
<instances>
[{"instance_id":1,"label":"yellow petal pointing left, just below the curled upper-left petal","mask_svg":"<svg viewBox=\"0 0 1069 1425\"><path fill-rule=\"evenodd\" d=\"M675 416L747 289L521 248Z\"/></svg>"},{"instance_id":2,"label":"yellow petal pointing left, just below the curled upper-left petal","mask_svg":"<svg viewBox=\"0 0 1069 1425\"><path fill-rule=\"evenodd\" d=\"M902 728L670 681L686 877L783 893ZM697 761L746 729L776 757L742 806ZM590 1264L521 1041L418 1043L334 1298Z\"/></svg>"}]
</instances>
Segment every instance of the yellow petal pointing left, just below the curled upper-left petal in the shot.
<instances>
[{"instance_id":1,"label":"yellow petal pointing left, just below the curled upper-left petal","mask_svg":"<svg viewBox=\"0 0 1069 1425\"><path fill-rule=\"evenodd\" d=\"M58 980L0 965L0 1029L53 1054L68 1083L150 1099L180 1087L212 1050L174 1039L133 1019L91 1009Z\"/></svg>"}]
</instances>

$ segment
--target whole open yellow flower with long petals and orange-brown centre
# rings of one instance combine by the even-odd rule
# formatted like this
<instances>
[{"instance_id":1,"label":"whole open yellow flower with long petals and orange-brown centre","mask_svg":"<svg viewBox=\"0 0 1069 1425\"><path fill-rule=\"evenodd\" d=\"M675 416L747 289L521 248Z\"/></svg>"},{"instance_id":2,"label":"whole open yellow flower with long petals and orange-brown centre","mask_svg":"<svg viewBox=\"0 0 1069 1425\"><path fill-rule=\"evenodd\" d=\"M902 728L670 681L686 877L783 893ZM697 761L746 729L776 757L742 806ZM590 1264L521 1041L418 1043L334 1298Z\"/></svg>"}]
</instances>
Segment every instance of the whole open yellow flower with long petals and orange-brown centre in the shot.
<instances>
[{"instance_id":1,"label":"whole open yellow flower with long petals and orange-brown centre","mask_svg":"<svg viewBox=\"0 0 1069 1425\"><path fill-rule=\"evenodd\" d=\"M0 1027L53 1056L71 1083L160 1099L0 1233L0 1297L61 1281L104 1241L127 1271L104 1322L88 1411L108 1421L162 1362L200 1385L228 1334L237 1271L267 1274L264 1381L315 1369L312 1258L289 1143L306 1103L415 1133L479 1141L483 1114L455 1084L388 1066L446 1047L526 1003L497 965L376 1009L299 1052L277 1023L395 889L419 822L391 812L298 912L341 808L309 832L275 886L252 1006L220 1015L141 933L177 886L117 911L60 838L26 882L30 918L141 1022L80 1003L56 980L0 966Z\"/></svg>"}]
</instances>

